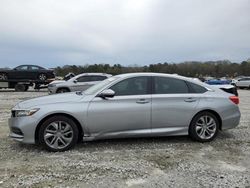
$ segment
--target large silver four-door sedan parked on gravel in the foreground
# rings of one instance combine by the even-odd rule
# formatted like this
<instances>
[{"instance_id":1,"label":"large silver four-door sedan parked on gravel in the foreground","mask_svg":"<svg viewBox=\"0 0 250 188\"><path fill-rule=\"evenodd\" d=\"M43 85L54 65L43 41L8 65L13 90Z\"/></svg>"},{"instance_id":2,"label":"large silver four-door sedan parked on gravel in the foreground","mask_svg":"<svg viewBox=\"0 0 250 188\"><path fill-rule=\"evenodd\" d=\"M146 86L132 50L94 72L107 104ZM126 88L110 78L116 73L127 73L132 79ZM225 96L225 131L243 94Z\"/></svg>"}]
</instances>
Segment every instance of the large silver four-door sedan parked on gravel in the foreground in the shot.
<instances>
[{"instance_id":1,"label":"large silver four-door sedan parked on gravel in the foreground","mask_svg":"<svg viewBox=\"0 0 250 188\"><path fill-rule=\"evenodd\" d=\"M65 151L79 140L189 135L213 140L239 124L239 98L178 75L131 73L110 77L84 92L18 103L10 137Z\"/></svg>"}]
</instances>

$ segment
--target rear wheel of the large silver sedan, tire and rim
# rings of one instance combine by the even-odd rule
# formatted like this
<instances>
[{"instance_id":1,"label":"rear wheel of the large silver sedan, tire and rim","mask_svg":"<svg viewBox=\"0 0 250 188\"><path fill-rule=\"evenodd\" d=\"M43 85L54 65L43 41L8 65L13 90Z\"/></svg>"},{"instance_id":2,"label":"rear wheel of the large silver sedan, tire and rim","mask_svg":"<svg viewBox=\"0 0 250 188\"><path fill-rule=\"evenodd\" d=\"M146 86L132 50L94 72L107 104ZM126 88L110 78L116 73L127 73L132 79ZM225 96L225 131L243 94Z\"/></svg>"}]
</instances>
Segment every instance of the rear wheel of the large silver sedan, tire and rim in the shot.
<instances>
[{"instance_id":1,"label":"rear wheel of the large silver sedan, tire and rim","mask_svg":"<svg viewBox=\"0 0 250 188\"><path fill-rule=\"evenodd\" d=\"M205 118L208 117L208 118ZM210 124L209 122L202 124L202 118L205 118L205 122L213 120ZM213 124L213 126L211 126ZM199 142L209 142L212 141L218 134L219 131L219 120L211 112L201 112L198 113L192 120L189 126L189 136ZM209 136L209 133L211 135Z\"/></svg>"}]
</instances>

